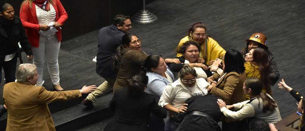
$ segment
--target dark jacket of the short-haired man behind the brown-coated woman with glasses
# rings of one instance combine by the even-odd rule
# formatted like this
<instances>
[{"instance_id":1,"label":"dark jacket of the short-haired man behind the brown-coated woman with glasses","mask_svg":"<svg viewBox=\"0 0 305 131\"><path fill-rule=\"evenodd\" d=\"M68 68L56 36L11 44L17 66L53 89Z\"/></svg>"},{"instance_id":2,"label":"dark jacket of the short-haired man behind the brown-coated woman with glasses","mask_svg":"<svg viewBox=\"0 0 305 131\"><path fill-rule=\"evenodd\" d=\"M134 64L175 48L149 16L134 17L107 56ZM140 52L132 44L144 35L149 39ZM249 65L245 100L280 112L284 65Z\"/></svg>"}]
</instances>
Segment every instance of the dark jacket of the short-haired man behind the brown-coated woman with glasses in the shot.
<instances>
[{"instance_id":1,"label":"dark jacket of the short-haired man behind the brown-coated woman with glasses","mask_svg":"<svg viewBox=\"0 0 305 131\"><path fill-rule=\"evenodd\" d=\"M122 45L122 37L125 34L114 25L99 30L96 55L96 73L99 76L110 79L117 77L117 72L113 70L113 56Z\"/></svg>"}]
</instances>

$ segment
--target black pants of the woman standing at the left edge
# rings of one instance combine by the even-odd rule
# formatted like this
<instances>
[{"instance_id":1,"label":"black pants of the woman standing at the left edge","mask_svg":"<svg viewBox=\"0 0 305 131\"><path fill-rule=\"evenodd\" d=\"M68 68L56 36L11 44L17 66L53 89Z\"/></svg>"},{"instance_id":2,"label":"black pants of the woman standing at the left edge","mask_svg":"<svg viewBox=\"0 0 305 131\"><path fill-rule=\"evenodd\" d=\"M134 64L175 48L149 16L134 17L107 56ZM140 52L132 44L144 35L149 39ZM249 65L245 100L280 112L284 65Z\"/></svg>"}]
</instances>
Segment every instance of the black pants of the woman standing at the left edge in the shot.
<instances>
[{"instance_id":1,"label":"black pants of the woman standing at the left edge","mask_svg":"<svg viewBox=\"0 0 305 131\"><path fill-rule=\"evenodd\" d=\"M4 70L5 83L14 82L15 81L15 73L16 73L16 65L17 65L17 54L10 61L4 61L4 57L0 60L0 70L2 72L2 67ZM2 73L0 73L0 80L2 80ZM1 83L1 82L0 82Z\"/></svg>"}]
</instances>

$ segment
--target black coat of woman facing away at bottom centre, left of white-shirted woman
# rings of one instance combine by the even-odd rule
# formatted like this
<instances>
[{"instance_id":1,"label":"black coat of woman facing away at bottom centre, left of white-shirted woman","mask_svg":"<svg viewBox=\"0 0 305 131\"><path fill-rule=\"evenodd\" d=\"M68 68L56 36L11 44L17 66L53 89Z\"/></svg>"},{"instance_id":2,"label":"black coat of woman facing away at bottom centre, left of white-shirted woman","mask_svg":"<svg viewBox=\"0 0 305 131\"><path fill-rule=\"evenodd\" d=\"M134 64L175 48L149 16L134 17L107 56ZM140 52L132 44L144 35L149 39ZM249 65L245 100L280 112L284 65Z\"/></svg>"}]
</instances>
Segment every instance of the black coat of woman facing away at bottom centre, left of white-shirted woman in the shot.
<instances>
[{"instance_id":1,"label":"black coat of woman facing away at bottom centre, left of white-shirted woman","mask_svg":"<svg viewBox=\"0 0 305 131\"><path fill-rule=\"evenodd\" d=\"M150 112L160 118L167 116L155 96L143 92L133 98L126 88L115 91L109 108L115 110L115 115L104 131L147 131Z\"/></svg>"}]
</instances>

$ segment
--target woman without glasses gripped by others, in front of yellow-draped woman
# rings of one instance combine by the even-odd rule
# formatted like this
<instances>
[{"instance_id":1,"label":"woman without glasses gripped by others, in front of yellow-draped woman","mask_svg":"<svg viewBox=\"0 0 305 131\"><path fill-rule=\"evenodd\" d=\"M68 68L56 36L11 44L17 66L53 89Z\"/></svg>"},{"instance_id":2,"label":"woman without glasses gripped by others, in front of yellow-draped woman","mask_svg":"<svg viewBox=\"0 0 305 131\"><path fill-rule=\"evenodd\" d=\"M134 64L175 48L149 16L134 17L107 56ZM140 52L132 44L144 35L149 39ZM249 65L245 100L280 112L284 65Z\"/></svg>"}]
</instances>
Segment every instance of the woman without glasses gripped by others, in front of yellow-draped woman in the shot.
<instances>
[{"instance_id":1,"label":"woman without glasses gripped by others, in front of yellow-draped woman","mask_svg":"<svg viewBox=\"0 0 305 131\"><path fill-rule=\"evenodd\" d=\"M181 63L171 63L168 66L173 72L179 72L184 65L194 67L196 70L197 78L206 79L211 76L211 72L208 70L207 65L203 63L197 63L196 60L199 58L199 52L201 51L199 44L196 41L186 41L179 48L177 52L181 53L182 56L176 57Z\"/></svg>"}]
</instances>

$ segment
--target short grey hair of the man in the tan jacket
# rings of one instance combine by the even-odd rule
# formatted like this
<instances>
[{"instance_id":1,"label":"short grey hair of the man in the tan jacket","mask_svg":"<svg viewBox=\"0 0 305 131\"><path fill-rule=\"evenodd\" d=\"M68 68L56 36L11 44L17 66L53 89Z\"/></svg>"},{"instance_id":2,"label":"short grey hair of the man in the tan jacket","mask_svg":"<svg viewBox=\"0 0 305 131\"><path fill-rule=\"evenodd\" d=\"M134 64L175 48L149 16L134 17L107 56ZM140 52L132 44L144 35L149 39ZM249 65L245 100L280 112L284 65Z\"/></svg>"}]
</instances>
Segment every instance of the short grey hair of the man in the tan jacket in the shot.
<instances>
[{"instance_id":1,"label":"short grey hair of the man in the tan jacket","mask_svg":"<svg viewBox=\"0 0 305 131\"><path fill-rule=\"evenodd\" d=\"M17 81L27 82L27 78L36 75L36 73L34 72L35 70L36 70L36 66L33 64L29 64L29 63L20 64L16 71Z\"/></svg>"}]
</instances>

